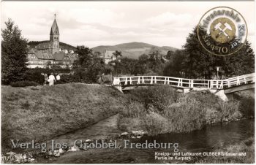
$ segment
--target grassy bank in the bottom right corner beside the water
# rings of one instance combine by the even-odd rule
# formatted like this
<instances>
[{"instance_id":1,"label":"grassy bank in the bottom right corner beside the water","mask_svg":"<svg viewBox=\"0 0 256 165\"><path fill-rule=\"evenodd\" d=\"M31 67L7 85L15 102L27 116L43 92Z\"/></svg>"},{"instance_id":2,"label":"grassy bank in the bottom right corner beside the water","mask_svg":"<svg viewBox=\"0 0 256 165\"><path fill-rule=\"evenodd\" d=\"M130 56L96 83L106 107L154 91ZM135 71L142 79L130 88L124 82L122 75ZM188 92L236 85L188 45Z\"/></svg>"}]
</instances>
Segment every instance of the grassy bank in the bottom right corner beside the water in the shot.
<instances>
[{"instance_id":1,"label":"grassy bank in the bottom right corner beside the water","mask_svg":"<svg viewBox=\"0 0 256 165\"><path fill-rule=\"evenodd\" d=\"M201 158L195 164L254 164L255 163L255 139L249 138L235 145L214 150L222 153L246 153L246 156L208 156Z\"/></svg>"}]
</instances>

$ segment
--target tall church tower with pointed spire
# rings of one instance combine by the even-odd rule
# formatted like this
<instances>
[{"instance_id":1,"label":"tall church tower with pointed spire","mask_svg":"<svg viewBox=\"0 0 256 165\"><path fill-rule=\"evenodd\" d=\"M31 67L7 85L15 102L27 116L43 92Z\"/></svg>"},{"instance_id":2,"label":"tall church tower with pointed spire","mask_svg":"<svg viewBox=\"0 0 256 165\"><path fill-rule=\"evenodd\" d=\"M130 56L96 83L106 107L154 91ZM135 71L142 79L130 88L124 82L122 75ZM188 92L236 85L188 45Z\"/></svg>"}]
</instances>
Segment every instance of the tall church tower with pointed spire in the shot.
<instances>
[{"instance_id":1,"label":"tall church tower with pointed spire","mask_svg":"<svg viewBox=\"0 0 256 165\"><path fill-rule=\"evenodd\" d=\"M59 28L54 14L53 26L50 28L50 53L59 53Z\"/></svg>"}]
</instances>

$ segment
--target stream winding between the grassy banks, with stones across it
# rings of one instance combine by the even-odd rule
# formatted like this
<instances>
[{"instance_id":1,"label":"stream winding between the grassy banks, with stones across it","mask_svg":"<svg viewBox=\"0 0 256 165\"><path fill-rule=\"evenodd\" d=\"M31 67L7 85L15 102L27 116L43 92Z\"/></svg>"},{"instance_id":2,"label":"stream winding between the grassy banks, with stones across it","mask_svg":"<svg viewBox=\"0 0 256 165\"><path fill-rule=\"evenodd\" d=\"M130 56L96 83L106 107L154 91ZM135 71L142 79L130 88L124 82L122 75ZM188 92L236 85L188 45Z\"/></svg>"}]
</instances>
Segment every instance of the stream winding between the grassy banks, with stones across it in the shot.
<instances>
[{"instance_id":1,"label":"stream winding between the grassy banks, with stones across it","mask_svg":"<svg viewBox=\"0 0 256 165\"><path fill-rule=\"evenodd\" d=\"M113 134L121 134L116 126L118 115L114 115L88 128L79 129L53 138L55 142L72 144L76 139L103 139ZM206 152L226 145L233 145L249 137L254 137L254 120L218 123L205 126L201 130L180 134L160 134L154 137L144 136L140 139L129 139L131 142L175 142L182 152ZM37 158L39 164L146 164L165 163L155 160L155 152L173 152L173 149L89 149L67 152L60 157ZM181 161L177 161L181 163Z\"/></svg>"}]
</instances>

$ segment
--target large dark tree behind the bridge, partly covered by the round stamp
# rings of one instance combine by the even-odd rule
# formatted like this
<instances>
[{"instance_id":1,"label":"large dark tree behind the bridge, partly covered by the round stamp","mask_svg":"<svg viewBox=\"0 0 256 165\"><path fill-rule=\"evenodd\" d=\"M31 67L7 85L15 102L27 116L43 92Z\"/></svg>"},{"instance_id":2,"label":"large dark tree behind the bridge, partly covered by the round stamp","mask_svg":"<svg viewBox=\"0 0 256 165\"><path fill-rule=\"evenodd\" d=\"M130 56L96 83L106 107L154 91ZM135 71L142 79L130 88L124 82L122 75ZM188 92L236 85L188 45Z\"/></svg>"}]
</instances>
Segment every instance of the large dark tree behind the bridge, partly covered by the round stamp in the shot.
<instances>
[{"instance_id":1,"label":"large dark tree behind the bridge, partly covered by the round stamp","mask_svg":"<svg viewBox=\"0 0 256 165\"><path fill-rule=\"evenodd\" d=\"M195 27L183 47L187 54L187 58L184 58L183 70L189 78L211 79L217 72L217 66L221 67L221 72L225 74L225 77L249 74L255 69L255 54L247 41L241 50L232 55L212 55L200 45L197 27Z\"/></svg>"}]
</instances>

